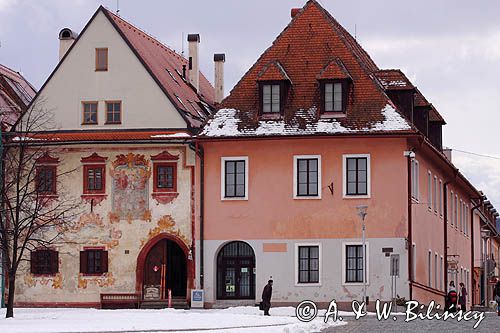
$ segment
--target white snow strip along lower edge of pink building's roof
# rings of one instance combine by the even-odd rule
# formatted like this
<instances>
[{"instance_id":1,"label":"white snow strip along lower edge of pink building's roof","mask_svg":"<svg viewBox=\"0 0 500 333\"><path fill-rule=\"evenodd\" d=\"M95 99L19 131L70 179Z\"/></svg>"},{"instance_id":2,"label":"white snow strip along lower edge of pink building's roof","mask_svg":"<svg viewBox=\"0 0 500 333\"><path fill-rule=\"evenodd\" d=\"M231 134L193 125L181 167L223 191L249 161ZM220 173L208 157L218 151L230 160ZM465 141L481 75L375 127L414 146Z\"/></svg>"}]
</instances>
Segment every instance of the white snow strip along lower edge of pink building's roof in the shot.
<instances>
[{"instance_id":1,"label":"white snow strip along lower edge of pink building's roof","mask_svg":"<svg viewBox=\"0 0 500 333\"><path fill-rule=\"evenodd\" d=\"M349 134L368 132L394 132L409 131L411 126L391 105L387 104L382 110L385 120L376 122L370 127L348 128L343 126L338 119L320 118L317 121L288 122L284 120L260 120L256 127L242 127L238 110L221 109L213 119L204 127L200 136L205 137L239 137L239 136L274 136L274 135L312 135L312 134ZM300 110L303 118L311 120L317 113L316 108Z\"/></svg>"}]
</instances>

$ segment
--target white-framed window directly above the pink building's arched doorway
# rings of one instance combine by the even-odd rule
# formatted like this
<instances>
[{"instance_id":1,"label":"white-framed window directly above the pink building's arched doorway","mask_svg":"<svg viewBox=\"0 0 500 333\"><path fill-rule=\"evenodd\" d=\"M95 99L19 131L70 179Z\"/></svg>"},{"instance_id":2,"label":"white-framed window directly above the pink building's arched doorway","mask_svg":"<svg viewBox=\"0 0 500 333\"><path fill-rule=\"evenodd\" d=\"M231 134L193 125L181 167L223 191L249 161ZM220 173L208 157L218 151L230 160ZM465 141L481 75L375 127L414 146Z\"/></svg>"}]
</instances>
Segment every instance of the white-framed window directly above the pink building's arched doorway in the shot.
<instances>
[{"instance_id":1,"label":"white-framed window directly above the pink building's arched doorway","mask_svg":"<svg viewBox=\"0 0 500 333\"><path fill-rule=\"evenodd\" d=\"M222 158L223 199L248 198L248 158Z\"/></svg>"}]
</instances>

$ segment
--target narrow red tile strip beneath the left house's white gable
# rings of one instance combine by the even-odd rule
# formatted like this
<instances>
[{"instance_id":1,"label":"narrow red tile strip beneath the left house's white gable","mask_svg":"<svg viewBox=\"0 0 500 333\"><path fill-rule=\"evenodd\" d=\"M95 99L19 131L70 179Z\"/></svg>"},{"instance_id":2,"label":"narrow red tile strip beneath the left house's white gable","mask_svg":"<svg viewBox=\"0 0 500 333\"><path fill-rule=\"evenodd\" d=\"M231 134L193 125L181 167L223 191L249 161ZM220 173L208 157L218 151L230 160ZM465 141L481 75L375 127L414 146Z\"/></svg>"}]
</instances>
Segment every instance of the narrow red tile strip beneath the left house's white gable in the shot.
<instances>
[{"instance_id":1,"label":"narrow red tile strip beneath the left house's white gable","mask_svg":"<svg viewBox=\"0 0 500 333\"><path fill-rule=\"evenodd\" d=\"M67 131L37 134L33 139L51 142L178 141L191 139L187 131Z\"/></svg>"}]
</instances>

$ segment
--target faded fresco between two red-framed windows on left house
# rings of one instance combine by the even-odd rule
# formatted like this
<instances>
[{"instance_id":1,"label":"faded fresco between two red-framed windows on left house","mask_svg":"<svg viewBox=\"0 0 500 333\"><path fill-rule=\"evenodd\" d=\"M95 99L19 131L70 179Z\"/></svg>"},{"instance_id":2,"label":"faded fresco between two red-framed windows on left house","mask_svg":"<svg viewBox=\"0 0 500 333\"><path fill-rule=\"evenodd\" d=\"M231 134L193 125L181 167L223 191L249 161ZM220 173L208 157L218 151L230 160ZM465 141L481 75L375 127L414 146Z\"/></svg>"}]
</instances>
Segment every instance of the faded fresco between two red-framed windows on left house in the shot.
<instances>
[{"instance_id":1,"label":"faded fresco between two red-framed windows on left house","mask_svg":"<svg viewBox=\"0 0 500 333\"><path fill-rule=\"evenodd\" d=\"M144 155L118 155L110 170L113 213L120 220L138 220L148 215L149 160Z\"/></svg>"}]
</instances>

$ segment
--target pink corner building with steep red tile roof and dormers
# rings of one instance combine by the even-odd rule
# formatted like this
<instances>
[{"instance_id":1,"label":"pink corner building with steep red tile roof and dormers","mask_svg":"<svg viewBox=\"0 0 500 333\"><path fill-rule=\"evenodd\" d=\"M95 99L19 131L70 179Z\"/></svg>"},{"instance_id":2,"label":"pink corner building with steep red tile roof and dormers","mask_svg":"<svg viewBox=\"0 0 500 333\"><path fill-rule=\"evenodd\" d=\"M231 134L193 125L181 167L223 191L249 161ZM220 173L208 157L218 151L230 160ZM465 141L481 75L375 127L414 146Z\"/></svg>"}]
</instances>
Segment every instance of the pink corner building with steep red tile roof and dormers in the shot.
<instances>
[{"instance_id":1,"label":"pink corner building with steep red tile roof and dormers","mask_svg":"<svg viewBox=\"0 0 500 333\"><path fill-rule=\"evenodd\" d=\"M281 305L471 290L481 194L443 153L444 124L316 1L292 10L199 135L206 302L252 304L271 277Z\"/></svg>"}]
</instances>

